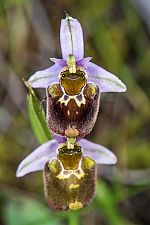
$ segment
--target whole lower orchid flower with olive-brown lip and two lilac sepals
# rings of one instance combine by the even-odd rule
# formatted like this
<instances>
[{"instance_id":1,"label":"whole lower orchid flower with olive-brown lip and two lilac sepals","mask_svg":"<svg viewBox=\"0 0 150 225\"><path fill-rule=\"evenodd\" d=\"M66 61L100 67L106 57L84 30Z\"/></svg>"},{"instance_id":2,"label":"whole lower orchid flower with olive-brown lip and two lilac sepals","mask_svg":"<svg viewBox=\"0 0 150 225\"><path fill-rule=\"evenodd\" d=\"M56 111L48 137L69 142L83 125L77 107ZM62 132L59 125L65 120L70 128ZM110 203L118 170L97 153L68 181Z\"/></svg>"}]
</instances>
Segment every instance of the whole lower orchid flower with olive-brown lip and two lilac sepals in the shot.
<instances>
[{"instance_id":1,"label":"whole lower orchid flower with olive-brown lip and two lilac sepals","mask_svg":"<svg viewBox=\"0 0 150 225\"><path fill-rule=\"evenodd\" d=\"M68 148L67 139L56 139L28 155L18 166L16 176L43 170L45 198L50 208L78 210L94 197L96 164L115 164L117 158L104 146L86 139L76 142L73 149Z\"/></svg>"}]
</instances>

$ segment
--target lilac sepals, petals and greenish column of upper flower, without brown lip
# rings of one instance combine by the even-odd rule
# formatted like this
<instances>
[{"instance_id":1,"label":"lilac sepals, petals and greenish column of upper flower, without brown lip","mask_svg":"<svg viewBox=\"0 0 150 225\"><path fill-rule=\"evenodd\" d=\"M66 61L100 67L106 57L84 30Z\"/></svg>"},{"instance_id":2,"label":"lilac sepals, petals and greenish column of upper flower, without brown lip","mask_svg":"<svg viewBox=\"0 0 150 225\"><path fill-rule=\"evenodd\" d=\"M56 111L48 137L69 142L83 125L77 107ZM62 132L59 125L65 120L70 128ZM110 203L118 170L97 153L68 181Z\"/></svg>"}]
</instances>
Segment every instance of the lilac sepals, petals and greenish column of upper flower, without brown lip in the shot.
<instances>
[{"instance_id":1,"label":"lilac sepals, petals and greenish column of upper flower, without brown lip","mask_svg":"<svg viewBox=\"0 0 150 225\"><path fill-rule=\"evenodd\" d=\"M112 73L84 58L83 32L78 20L66 16L61 20L60 44L62 59L51 58L54 65L36 72L28 80L33 88L47 88L53 82L59 82L59 75L68 68L70 73L79 67L87 75L87 81L95 83L100 92L125 92L125 84Z\"/></svg>"}]
</instances>

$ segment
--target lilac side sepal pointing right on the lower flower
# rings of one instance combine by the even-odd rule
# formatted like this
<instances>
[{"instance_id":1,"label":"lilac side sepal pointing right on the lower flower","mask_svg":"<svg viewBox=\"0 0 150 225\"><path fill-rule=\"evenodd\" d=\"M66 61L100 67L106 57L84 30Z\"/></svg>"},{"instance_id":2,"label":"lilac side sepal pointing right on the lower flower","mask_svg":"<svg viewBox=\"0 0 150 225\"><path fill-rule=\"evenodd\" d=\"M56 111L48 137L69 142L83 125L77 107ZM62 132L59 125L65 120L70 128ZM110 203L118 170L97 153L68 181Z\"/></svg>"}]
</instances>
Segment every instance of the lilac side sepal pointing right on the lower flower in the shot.
<instances>
[{"instance_id":1,"label":"lilac side sepal pointing right on the lower flower","mask_svg":"<svg viewBox=\"0 0 150 225\"><path fill-rule=\"evenodd\" d=\"M86 139L81 139L79 143L83 148L83 154L90 156L97 164L115 164L117 162L117 157L114 153L104 146Z\"/></svg>"}]
</instances>

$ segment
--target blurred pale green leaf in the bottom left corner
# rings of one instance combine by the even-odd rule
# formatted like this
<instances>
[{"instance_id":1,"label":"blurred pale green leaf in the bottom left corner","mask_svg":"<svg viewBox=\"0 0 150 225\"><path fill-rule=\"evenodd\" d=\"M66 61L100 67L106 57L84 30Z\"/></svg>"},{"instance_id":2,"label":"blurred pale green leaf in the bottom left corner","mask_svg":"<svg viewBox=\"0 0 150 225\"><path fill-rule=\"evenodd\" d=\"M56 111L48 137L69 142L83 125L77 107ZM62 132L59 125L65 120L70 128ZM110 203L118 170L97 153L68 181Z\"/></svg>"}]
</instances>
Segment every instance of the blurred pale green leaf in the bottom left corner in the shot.
<instances>
[{"instance_id":1,"label":"blurred pale green leaf in the bottom left corner","mask_svg":"<svg viewBox=\"0 0 150 225\"><path fill-rule=\"evenodd\" d=\"M40 202L19 195L16 196L15 200L11 198L3 210L6 225L60 224L60 218L56 217L55 214L49 211L49 209Z\"/></svg>"}]
</instances>

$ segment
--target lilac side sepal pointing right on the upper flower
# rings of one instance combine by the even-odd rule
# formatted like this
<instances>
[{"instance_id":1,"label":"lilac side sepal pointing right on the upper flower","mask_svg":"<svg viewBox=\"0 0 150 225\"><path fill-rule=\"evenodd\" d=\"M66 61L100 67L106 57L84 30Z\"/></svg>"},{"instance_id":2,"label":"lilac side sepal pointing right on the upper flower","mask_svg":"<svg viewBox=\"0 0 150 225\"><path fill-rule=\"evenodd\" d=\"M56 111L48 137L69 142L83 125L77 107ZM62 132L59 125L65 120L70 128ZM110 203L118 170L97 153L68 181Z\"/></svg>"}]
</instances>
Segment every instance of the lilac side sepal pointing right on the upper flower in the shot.
<instances>
[{"instance_id":1,"label":"lilac side sepal pointing right on the upper flower","mask_svg":"<svg viewBox=\"0 0 150 225\"><path fill-rule=\"evenodd\" d=\"M112 73L104 70L100 66L89 62L85 66L90 82L99 86L101 92L125 92L125 84Z\"/></svg>"}]
</instances>

